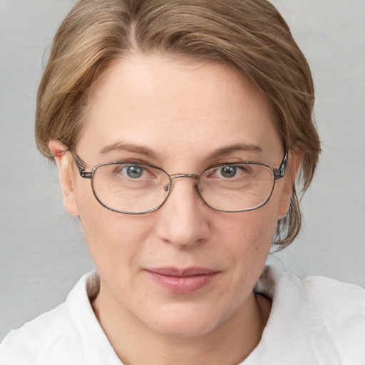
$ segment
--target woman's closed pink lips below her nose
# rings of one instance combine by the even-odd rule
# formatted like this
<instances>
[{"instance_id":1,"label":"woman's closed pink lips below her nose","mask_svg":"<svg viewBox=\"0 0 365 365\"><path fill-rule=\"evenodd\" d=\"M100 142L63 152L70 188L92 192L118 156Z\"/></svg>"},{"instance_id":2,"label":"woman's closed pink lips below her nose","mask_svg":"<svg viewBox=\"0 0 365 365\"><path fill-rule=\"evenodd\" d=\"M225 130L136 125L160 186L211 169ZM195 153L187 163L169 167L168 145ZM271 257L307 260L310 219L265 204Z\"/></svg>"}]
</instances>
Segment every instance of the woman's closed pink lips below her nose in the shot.
<instances>
[{"instance_id":1,"label":"woman's closed pink lips below her nose","mask_svg":"<svg viewBox=\"0 0 365 365\"><path fill-rule=\"evenodd\" d=\"M202 267L189 269L176 269L175 267L162 267L147 269L151 279L165 287L170 292L188 294L205 287L219 272Z\"/></svg>"}]
</instances>

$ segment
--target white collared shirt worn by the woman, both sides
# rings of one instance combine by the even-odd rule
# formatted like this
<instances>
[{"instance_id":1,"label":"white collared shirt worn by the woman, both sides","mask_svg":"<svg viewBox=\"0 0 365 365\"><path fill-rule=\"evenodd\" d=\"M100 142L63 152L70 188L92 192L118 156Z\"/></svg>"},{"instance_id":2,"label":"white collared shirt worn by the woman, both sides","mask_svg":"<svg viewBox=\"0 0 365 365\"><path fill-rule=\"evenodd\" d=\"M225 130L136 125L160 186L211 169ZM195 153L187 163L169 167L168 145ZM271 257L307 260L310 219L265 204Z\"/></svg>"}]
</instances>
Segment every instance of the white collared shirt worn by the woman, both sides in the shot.
<instances>
[{"instance_id":1,"label":"white collared shirt worn by the woman, both sides","mask_svg":"<svg viewBox=\"0 0 365 365\"><path fill-rule=\"evenodd\" d=\"M241 365L365 364L365 289L266 267L256 291L272 311ZM96 272L81 277L66 302L5 337L0 364L123 365L93 313L97 292Z\"/></svg>"}]
</instances>

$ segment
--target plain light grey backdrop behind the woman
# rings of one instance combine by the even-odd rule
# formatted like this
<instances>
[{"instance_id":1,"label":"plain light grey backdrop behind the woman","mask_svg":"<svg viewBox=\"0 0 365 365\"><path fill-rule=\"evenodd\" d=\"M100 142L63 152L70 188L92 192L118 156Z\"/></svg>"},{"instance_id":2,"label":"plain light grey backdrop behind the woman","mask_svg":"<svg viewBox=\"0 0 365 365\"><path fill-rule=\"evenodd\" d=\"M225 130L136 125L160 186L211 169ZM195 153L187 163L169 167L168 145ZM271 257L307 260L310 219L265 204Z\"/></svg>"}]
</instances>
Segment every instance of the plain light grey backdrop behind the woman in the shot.
<instances>
[{"instance_id":1,"label":"plain light grey backdrop behind the woman","mask_svg":"<svg viewBox=\"0 0 365 365\"><path fill-rule=\"evenodd\" d=\"M275 0L312 66L323 153L297 240L272 255L300 277L365 287L365 1ZM0 339L93 269L55 166L34 143L36 89L73 0L0 0Z\"/></svg>"}]
</instances>

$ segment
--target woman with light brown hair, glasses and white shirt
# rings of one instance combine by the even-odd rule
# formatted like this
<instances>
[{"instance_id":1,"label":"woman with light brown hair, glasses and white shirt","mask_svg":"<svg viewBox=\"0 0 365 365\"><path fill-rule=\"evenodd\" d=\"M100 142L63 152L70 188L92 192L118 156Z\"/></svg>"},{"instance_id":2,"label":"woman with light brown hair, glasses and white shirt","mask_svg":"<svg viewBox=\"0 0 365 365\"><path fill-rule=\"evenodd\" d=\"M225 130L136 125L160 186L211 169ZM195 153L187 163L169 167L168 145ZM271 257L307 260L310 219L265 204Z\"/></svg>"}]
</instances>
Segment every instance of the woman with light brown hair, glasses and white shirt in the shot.
<instances>
[{"instance_id":1,"label":"woman with light brown hair, glasses and white shirt","mask_svg":"<svg viewBox=\"0 0 365 365\"><path fill-rule=\"evenodd\" d=\"M0 362L364 363L364 289L264 267L299 232L313 103L267 1L78 1L36 140L97 272L11 332Z\"/></svg>"}]
</instances>

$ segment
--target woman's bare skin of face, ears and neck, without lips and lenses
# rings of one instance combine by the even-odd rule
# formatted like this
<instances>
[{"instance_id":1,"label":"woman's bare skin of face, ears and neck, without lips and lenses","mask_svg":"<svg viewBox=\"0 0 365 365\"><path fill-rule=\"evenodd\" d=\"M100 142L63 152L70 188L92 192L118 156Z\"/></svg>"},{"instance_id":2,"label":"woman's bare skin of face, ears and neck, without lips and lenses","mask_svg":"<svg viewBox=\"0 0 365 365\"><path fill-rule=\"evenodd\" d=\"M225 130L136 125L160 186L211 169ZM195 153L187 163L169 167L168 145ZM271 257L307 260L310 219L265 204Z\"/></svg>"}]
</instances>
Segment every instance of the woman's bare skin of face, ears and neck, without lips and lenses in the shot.
<instances>
[{"instance_id":1,"label":"woman's bare skin of face, ears and neck, without lips and lenses","mask_svg":"<svg viewBox=\"0 0 365 365\"><path fill-rule=\"evenodd\" d=\"M76 152L87 170L112 160L143 161L170 174L246 160L278 168L284 150L272 118L262 93L228 66L133 54L93 86ZM237 143L257 148L214 155ZM101 153L107 146L114 148ZM49 147L53 155L66 149L57 140ZM299 162L291 155L289 161L294 175ZM125 215L97 202L71 153L56 163L64 205L80 217L101 276L94 311L124 364L237 364L255 349L270 302L252 289L289 206L289 174L266 205L250 212L212 210L183 178L159 210ZM178 294L151 280L150 267L218 274L202 289Z\"/></svg>"}]
</instances>

